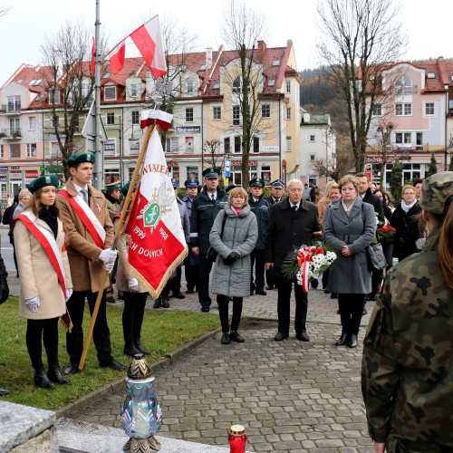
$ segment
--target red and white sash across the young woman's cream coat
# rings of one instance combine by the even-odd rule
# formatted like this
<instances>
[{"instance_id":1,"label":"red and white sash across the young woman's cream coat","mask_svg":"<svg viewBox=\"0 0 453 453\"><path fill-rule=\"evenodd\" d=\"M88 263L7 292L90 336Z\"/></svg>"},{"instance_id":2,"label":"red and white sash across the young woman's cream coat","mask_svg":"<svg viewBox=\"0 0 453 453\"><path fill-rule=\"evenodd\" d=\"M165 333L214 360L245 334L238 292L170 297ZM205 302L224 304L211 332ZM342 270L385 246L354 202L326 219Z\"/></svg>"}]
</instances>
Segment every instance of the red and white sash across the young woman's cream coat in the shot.
<instances>
[{"instance_id":1,"label":"red and white sash across the young woman's cream coat","mask_svg":"<svg viewBox=\"0 0 453 453\"><path fill-rule=\"evenodd\" d=\"M30 233L32 233L32 235L36 237L39 243L43 246L45 255L49 257L53 265L53 269L55 269L58 282L62 286L64 299L66 300L66 284L64 283L66 275L64 272L62 253L58 249L53 232L36 223L36 216L32 211L24 211L17 216L16 220L22 220L28 231L30 231Z\"/></svg>"}]
</instances>

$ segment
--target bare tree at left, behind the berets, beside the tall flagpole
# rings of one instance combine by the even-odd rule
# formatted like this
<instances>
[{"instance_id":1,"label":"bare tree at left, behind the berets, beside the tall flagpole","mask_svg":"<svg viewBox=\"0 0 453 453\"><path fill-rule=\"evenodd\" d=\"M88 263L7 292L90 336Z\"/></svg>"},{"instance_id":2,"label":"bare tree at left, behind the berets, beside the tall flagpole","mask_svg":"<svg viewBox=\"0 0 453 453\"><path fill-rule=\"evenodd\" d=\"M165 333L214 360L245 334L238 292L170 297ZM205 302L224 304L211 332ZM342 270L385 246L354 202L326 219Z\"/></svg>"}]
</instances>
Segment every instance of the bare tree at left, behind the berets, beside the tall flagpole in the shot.
<instances>
[{"instance_id":1,"label":"bare tree at left, behind the berets, beside the tall flagpole","mask_svg":"<svg viewBox=\"0 0 453 453\"><path fill-rule=\"evenodd\" d=\"M56 34L46 39L41 52L43 84L49 96L49 114L43 127L55 136L59 147L57 157L62 161L67 178L66 160L84 148L79 121L90 107L94 88L90 63L92 34L82 23L66 22Z\"/></svg>"}]
</instances>

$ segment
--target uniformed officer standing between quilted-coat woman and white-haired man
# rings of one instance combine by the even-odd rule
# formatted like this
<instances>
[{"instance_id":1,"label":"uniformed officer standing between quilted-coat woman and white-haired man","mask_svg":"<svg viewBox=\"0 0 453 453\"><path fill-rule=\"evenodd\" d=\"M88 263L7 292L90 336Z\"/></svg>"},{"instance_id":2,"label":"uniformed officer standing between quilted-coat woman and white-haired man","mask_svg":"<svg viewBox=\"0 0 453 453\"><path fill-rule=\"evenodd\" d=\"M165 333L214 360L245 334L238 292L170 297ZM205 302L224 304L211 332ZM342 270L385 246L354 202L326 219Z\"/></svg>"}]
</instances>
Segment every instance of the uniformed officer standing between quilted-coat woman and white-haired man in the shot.
<instances>
[{"instance_id":1,"label":"uniformed officer standing between quilted-coat woman and white-haired man","mask_svg":"<svg viewBox=\"0 0 453 453\"><path fill-rule=\"evenodd\" d=\"M265 295L265 231L271 215L271 204L263 198L265 181L262 178L251 179L248 183L248 204L255 214L258 224L258 240L250 254L252 274L250 275L250 295ZM255 282L254 282L255 267Z\"/></svg>"}]
</instances>

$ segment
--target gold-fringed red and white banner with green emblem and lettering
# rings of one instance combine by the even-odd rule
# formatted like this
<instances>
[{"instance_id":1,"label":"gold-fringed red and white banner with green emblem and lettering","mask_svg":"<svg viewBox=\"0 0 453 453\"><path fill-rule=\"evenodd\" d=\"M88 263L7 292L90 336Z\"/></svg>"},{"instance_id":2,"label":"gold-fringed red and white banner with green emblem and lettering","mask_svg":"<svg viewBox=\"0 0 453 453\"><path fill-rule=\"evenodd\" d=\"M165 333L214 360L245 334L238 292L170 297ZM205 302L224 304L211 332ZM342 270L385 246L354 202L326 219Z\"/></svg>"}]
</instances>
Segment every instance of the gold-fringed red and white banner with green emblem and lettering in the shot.
<instances>
[{"instance_id":1,"label":"gold-fringed red and white banner with green emblem and lettering","mask_svg":"<svg viewBox=\"0 0 453 453\"><path fill-rule=\"evenodd\" d=\"M188 255L158 128L149 138L125 233L130 235L128 272L156 299Z\"/></svg>"}]
</instances>

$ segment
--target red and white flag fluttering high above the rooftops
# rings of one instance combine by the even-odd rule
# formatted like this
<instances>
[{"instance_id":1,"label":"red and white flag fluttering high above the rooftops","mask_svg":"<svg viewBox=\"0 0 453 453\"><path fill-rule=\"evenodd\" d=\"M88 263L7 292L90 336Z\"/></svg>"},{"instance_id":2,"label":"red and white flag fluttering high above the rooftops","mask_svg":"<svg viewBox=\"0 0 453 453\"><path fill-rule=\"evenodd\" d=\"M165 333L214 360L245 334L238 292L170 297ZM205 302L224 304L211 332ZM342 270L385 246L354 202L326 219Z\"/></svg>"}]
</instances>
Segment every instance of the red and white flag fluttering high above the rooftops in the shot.
<instances>
[{"instance_id":1,"label":"red and white flag fluttering high above the rooftops","mask_svg":"<svg viewBox=\"0 0 453 453\"><path fill-rule=\"evenodd\" d=\"M141 25L130 34L130 38L139 49L141 56L148 64L150 72L155 79L167 73L165 63L164 46L160 34L159 16L155 15L146 24ZM110 54L111 72L116 74L124 67L126 41L125 38L119 43Z\"/></svg>"}]
</instances>

